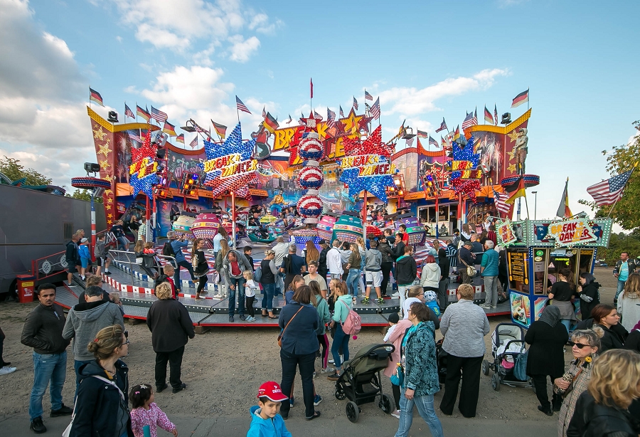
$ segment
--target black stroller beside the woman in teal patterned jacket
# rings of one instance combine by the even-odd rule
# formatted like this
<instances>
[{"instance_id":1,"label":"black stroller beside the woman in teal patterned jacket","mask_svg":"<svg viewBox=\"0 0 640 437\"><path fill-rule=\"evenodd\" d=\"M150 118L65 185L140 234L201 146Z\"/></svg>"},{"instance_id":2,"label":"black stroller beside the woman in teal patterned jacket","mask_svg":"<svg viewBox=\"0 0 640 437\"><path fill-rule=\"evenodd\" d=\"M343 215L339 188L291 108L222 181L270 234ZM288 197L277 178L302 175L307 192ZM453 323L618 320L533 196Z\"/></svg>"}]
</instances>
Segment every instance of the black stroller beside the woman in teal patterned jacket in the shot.
<instances>
[{"instance_id":1,"label":"black stroller beside the woman in teal patterned jacket","mask_svg":"<svg viewBox=\"0 0 640 437\"><path fill-rule=\"evenodd\" d=\"M386 414L395 406L388 394L383 394L380 372L387 368L393 344L369 344L361 348L353 359L343 363L344 372L336 381L336 399L349 399L346 415L349 421L356 423L360 416L360 406L375 402Z\"/></svg>"}]
</instances>

